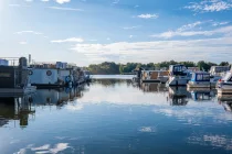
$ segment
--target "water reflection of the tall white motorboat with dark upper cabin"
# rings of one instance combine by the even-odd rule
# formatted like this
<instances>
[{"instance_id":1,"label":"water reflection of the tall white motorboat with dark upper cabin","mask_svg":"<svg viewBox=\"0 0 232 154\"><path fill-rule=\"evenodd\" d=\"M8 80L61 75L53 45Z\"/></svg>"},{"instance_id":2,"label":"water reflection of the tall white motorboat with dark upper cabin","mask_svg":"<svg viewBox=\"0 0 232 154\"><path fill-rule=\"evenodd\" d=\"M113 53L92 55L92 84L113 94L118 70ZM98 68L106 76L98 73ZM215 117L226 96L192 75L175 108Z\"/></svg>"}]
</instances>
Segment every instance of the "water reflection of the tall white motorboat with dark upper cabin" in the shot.
<instances>
[{"instance_id":1,"label":"water reflection of the tall white motorboat with dark upper cabin","mask_svg":"<svg viewBox=\"0 0 232 154\"><path fill-rule=\"evenodd\" d=\"M186 87L169 87L169 101L171 106L186 106L191 97Z\"/></svg>"}]
</instances>

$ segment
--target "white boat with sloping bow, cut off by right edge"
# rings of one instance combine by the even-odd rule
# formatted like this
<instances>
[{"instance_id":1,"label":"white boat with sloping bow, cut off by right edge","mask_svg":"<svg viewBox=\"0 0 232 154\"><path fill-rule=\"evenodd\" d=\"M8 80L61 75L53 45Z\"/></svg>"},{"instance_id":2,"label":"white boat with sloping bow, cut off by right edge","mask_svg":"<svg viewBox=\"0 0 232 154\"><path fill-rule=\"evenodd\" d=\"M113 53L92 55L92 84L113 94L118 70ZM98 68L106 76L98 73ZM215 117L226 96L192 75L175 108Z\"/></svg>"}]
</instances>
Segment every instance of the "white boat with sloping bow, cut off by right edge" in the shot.
<instances>
[{"instance_id":1,"label":"white boat with sloping bow, cut off by right edge","mask_svg":"<svg viewBox=\"0 0 232 154\"><path fill-rule=\"evenodd\" d=\"M232 96L232 70L228 72L222 79L217 82L218 95Z\"/></svg>"}]
</instances>

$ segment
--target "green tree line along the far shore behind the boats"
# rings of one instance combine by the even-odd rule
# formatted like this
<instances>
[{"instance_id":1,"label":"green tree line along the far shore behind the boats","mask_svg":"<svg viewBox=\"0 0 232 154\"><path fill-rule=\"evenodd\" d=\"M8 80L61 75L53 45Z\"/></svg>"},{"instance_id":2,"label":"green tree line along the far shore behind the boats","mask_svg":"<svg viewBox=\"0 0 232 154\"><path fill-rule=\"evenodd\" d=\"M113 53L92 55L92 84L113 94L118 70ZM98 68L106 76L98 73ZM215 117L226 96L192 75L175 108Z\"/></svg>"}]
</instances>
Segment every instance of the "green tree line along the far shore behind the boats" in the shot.
<instances>
[{"instance_id":1,"label":"green tree line along the far shore behind the boats","mask_svg":"<svg viewBox=\"0 0 232 154\"><path fill-rule=\"evenodd\" d=\"M102 64L91 64L87 69L94 75L118 75L118 74L129 74L136 68L144 69L168 69L170 65L183 64L187 67L199 67L201 70L208 72L211 66L229 66L228 62L221 62L220 64L199 61L194 62L176 62L176 61L166 61L161 63L127 63L127 64L116 64L114 62L104 62Z\"/></svg>"}]
</instances>

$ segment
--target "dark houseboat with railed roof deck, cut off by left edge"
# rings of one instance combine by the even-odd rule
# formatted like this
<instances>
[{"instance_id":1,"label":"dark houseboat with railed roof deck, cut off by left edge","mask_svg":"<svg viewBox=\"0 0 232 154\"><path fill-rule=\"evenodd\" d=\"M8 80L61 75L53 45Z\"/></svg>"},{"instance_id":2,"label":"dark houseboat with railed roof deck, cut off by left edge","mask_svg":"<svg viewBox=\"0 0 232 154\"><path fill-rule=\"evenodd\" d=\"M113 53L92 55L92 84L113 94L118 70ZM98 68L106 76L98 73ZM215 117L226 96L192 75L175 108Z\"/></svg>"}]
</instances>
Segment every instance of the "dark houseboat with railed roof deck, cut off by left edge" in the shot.
<instances>
[{"instance_id":1,"label":"dark houseboat with railed roof deck, cut off by left edge","mask_svg":"<svg viewBox=\"0 0 232 154\"><path fill-rule=\"evenodd\" d=\"M22 96L35 92L36 87L31 86L29 80L28 61L25 57L18 59L18 66L9 65L7 59L0 59L0 63L1 96Z\"/></svg>"}]
</instances>

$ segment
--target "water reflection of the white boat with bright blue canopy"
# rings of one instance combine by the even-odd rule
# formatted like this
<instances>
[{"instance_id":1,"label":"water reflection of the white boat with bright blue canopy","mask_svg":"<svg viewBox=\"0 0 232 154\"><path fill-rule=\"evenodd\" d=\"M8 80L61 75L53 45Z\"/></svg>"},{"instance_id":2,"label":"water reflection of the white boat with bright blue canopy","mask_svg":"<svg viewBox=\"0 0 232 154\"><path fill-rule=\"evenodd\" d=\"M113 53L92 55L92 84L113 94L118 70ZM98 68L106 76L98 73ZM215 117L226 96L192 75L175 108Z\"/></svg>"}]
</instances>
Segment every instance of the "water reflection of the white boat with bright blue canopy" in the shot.
<instances>
[{"instance_id":1,"label":"water reflection of the white boat with bright blue canopy","mask_svg":"<svg viewBox=\"0 0 232 154\"><path fill-rule=\"evenodd\" d=\"M191 98L194 101L212 100L215 97L215 91L209 88L188 88L188 91L191 92Z\"/></svg>"}]
</instances>

